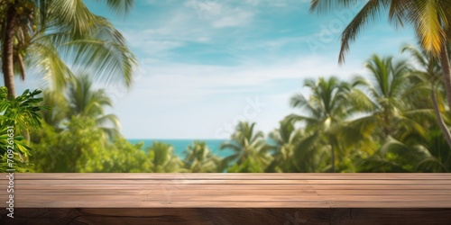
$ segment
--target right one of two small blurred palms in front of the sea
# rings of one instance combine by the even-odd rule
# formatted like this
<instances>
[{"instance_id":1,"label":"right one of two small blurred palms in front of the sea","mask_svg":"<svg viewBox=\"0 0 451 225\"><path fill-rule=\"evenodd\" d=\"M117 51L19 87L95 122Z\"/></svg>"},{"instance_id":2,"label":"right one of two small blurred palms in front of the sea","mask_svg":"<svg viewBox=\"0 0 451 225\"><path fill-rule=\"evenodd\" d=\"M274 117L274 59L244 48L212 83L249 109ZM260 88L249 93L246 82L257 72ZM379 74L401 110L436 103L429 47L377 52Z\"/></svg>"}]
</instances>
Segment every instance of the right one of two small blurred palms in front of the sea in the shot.
<instances>
[{"instance_id":1,"label":"right one of two small blurred palms in front of the sea","mask_svg":"<svg viewBox=\"0 0 451 225\"><path fill-rule=\"evenodd\" d=\"M207 147L206 142L195 141L184 151L186 155L183 162L192 173L214 173L217 171L216 163L219 158L214 156Z\"/></svg>"}]
</instances>

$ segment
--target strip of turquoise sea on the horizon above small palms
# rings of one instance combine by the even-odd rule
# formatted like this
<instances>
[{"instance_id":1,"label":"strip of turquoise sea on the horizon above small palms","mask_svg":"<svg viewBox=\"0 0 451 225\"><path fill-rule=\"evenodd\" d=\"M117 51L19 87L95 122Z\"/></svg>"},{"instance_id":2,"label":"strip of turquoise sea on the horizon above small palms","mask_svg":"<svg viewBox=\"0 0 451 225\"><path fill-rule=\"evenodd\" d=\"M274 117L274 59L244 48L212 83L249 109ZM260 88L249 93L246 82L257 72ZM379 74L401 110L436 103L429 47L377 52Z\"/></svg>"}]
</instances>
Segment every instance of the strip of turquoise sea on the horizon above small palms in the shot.
<instances>
[{"instance_id":1,"label":"strip of turquoise sea on the horizon above small palms","mask_svg":"<svg viewBox=\"0 0 451 225\"><path fill-rule=\"evenodd\" d=\"M192 145L195 140L198 139L128 139L128 141L130 141L130 143L132 144L143 142L143 150L151 147L154 141L170 144L172 147L174 147L174 154L181 159L185 157L183 151L189 145ZM211 152L218 157L227 157L232 154L232 150L230 149L220 149L221 144L227 141L227 139L201 139L200 141L205 141Z\"/></svg>"}]
</instances>

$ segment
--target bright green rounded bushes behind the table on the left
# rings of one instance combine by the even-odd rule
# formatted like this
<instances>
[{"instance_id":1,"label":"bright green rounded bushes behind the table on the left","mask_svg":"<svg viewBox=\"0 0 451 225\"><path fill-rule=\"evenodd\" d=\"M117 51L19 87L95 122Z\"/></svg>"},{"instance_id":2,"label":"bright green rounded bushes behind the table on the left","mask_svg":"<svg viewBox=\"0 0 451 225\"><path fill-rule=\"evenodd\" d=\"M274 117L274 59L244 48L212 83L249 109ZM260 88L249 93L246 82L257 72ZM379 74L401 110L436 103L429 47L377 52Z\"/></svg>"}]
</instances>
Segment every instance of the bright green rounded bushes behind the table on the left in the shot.
<instances>
[{"instance_id":1,"label":"bright green rounded bushes behind the table on the left","mask_svg":"<svg viewBox=\"0 0 451 225\"><path fill-rule=\"evenodd\" d=\"M73 116L66 129L55 131L44 126L39 142L32 145L34 172L151 172L149 157L142 146L123 138L114 142L103 139L103 130L96 121Z\"/></svg>"}]
</instances>

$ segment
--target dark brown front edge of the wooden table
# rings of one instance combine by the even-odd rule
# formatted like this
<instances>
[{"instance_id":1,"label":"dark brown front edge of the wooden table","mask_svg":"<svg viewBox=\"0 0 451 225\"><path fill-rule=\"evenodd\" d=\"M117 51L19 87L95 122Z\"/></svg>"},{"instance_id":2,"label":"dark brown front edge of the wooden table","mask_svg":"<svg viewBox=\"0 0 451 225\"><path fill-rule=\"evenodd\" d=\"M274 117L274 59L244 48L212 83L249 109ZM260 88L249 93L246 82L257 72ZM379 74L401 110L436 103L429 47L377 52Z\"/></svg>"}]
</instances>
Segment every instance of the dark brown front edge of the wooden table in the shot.
<instances>
[{"instance_id":1,"label":"dark brown front edge of the wooden table","mask_svg":"<svg viewBox=\"0 0 451 225\"><path fill-rule=\"evenodd\" d=\"M451 209L21 208L1 224L449 225Z\"/></svg>"}]
</instances>

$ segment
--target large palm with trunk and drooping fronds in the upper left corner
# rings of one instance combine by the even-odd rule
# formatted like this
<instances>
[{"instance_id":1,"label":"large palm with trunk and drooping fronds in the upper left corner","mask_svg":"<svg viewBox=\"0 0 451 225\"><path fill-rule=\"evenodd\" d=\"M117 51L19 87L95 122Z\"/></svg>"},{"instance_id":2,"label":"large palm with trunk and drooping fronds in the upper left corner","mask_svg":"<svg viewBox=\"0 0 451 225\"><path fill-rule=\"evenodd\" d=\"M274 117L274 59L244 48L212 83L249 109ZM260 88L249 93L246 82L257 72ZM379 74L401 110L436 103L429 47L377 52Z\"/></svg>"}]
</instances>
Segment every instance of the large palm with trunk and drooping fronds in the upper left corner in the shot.
<instances>
[{"instance_id":1,"label":"large palm with trunk and drooping fronds in the upper left corner","mask_svg":"<svg viewBox=\"0 0 451 225\"><path fill-rule=\"evenodd\" d=\"M116 12L129 12L133 0L107 0ZM15 95L15 72L26 67L65 87L73 70L90 70L105 81L122 78L132 84L136 60L124 37L105 18L92 14L82 1L0 1L2 71L9 94ZM68 64L71 67L68 66Z\"/></svg>"}]
</instances>

